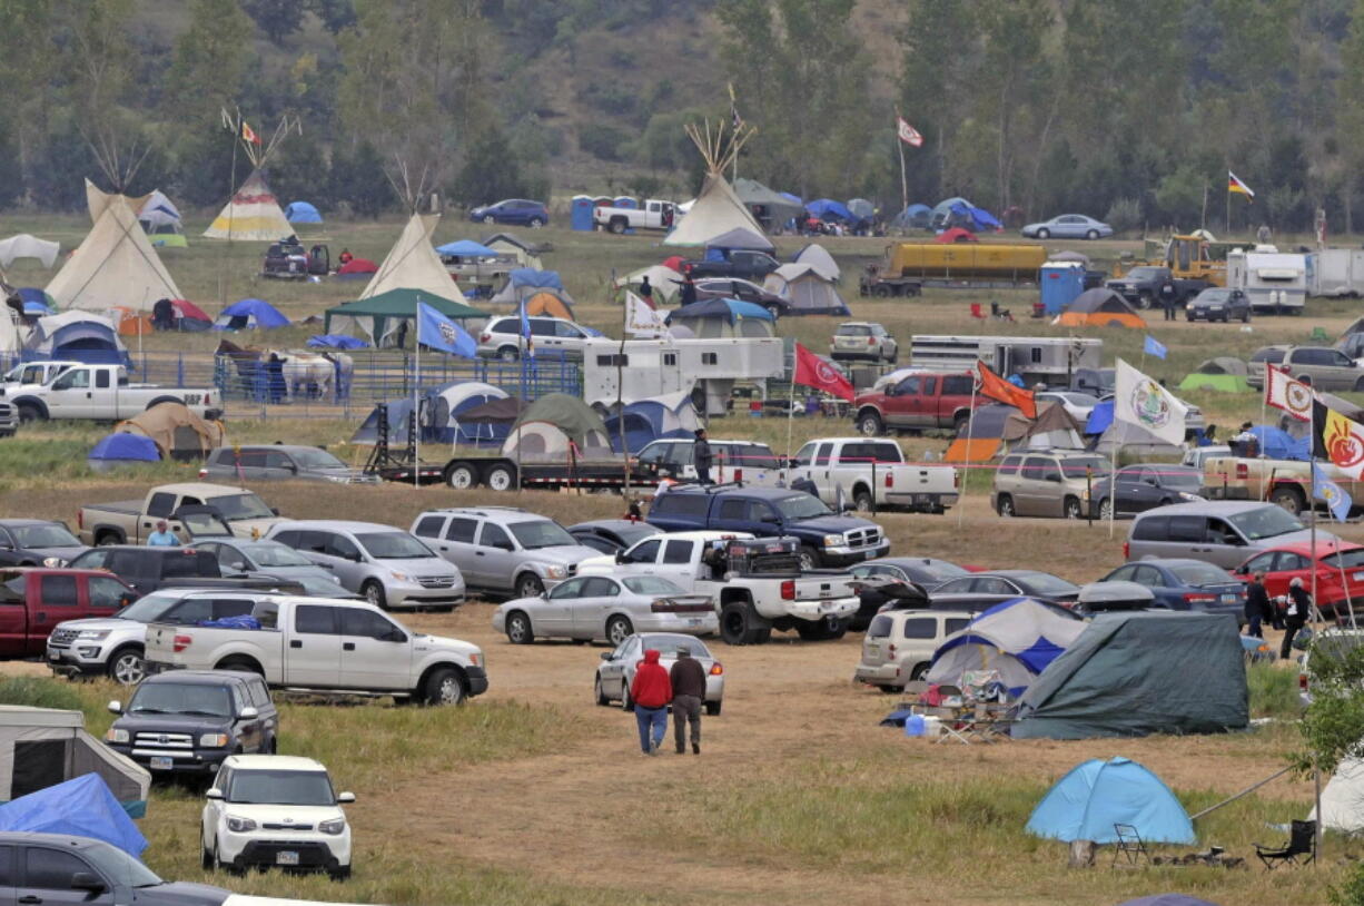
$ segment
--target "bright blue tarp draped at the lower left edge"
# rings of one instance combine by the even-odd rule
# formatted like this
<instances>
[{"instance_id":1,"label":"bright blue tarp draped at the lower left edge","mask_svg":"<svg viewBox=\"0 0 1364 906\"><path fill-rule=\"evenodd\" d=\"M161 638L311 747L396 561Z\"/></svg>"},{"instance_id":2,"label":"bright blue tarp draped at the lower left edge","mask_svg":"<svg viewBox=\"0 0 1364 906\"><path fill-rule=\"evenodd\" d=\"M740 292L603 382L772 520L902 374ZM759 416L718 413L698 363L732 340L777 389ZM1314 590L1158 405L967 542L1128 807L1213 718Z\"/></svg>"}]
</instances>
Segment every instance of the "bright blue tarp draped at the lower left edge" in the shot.
<instances>
[{"instance_id":1,"label":"bright blue tarp draped at the lower left edge","mask_svg":"<svg viewBox=\"0 0 1364 906\"><path fill-rule=\"evenodd\" d=\"M134 857L147 849L147 838L98 774L83 774L0 805L0 831L91 836Z\"/></svg>"}]
</instances>

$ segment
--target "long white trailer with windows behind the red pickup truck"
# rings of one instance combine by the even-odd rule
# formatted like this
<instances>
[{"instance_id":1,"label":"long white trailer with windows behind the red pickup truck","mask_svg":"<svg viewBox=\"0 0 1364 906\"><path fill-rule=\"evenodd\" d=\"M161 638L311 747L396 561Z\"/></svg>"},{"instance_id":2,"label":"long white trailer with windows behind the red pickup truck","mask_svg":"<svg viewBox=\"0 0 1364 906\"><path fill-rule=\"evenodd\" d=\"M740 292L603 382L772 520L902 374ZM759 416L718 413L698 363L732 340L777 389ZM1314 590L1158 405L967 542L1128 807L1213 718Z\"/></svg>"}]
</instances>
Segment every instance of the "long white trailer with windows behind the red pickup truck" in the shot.
<instances>
[{"instance_id":1,"label":"long white trailer with windows behind the red pickup truck","mask_svg":"<svg viewBox=\"0 0 1364 906\"><path fill-rule=\"evenodd\" d=\"M1079 368L1098 368L1103 341L1093 337L934 337L910 338L915 368L966 371L983 362L996 374L1016 374L1028 386L1071 386Z\"/></svg>"}]
</instances>

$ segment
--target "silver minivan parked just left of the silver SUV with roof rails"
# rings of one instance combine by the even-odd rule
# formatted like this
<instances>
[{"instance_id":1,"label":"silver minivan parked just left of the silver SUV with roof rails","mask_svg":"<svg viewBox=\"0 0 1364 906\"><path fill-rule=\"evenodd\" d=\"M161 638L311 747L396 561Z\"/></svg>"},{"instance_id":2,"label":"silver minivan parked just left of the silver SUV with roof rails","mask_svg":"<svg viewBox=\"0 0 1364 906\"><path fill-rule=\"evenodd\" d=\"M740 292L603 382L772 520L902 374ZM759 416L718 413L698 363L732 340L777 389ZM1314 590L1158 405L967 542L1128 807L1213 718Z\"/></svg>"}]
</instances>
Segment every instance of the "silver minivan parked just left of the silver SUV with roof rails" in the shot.
<instances>
[{"instance_id":1,"label":"silver minivan parked just left of the silver SUV with roof rails","mask_svg":"<svg viewBox=\"0 0 1364 906\"><path fill-rule=\"evenodd\" d=\"M330 570L346 591L383 610L431 607L449 613L464 603L460 570L391 525L299 520L273 527L266 538Z\"/></svg>"}]
</instances>

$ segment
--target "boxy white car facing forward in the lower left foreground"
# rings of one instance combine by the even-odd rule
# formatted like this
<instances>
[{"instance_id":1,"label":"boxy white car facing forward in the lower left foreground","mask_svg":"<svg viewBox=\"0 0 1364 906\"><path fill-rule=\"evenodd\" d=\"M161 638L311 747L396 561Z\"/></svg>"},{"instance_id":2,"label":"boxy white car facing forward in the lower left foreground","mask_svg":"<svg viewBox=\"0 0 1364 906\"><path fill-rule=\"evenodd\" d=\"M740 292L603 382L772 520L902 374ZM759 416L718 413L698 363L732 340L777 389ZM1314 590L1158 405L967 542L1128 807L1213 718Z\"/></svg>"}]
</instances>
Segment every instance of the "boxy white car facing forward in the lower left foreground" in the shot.
<instances>
[{"instance_id":1,"label":"boxy white car facing forward in the lower left foreground","mask_svg":"<svg viewBox=\"0 0 1364 906\"><path fill-rule=\"evenodd\" d=\"M203 868L311 868L351 876L351 824L327 770L288 755L229 756L205 793Z\"/></svg>"}]
</instances>

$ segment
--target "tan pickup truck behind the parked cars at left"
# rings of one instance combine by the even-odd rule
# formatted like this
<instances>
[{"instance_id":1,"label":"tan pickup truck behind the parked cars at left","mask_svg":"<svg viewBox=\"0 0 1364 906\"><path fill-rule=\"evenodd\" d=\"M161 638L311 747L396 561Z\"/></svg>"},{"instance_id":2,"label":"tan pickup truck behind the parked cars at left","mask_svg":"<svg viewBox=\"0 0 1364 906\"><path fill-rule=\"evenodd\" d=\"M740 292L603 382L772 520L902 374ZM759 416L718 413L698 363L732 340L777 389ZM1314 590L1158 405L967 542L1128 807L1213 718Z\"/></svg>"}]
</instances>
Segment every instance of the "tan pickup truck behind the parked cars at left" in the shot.
<instances>
[{"instance_id":1,"label":"tan pickup truck behind the parked cars at left","mask_svg":"<svg viewBox=\"0 0 1364 906\"><path fill-rule=\"evenodd\" d=\"M82 506L76 510L76 535L86 544L140 544L164 518L188 543L191 532L176 518L181 506L211 506L237 538L261 538L276 523L286 521L280 510L243 487L184 482L153 487L140 501Z\"/></svg>"}]
</instances>

